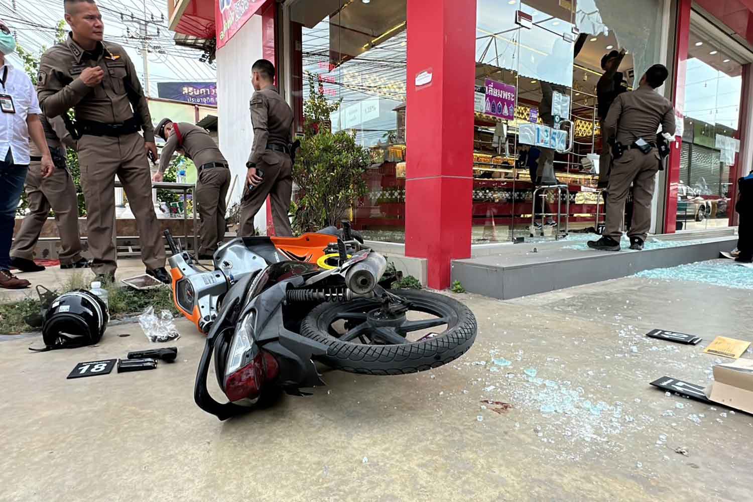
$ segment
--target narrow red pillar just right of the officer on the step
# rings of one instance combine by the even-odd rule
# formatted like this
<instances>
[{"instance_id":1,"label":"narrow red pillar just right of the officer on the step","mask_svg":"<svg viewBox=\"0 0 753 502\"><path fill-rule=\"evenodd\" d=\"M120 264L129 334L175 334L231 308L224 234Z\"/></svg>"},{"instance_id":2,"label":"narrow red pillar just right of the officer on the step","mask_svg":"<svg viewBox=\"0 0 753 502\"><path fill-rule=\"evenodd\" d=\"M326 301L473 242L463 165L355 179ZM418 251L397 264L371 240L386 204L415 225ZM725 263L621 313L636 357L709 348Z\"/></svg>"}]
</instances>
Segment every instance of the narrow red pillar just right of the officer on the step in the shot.
<instances>
[{"instance_id":1,"label":"narrow red pillar just right of the officer on the step","mask_svg":"<svg viewBox=\"0 0 753 502\"><path fill-rule=\"evenodd\" d=\"M691 32L692 0L679 0L677 5L677 36L675 37L675 71L672 85L674 86L675 113L684 117L685 106L685 66L687 65L687 44ZM678 120L683 120L678 118ZM677 185L680 181L680 152L682 140L675 141L669 151L669 161L666 172L666 205L664 211L664 232L675 233L677 230Z\"/></svg>"}]
</instances>

